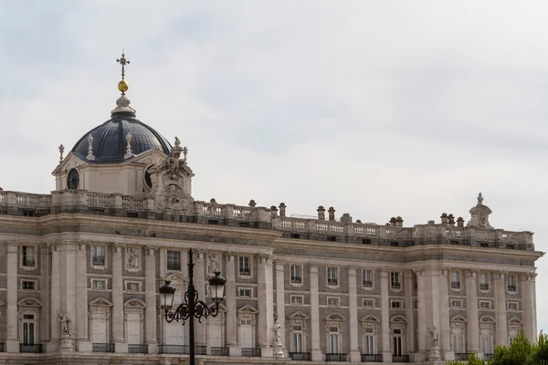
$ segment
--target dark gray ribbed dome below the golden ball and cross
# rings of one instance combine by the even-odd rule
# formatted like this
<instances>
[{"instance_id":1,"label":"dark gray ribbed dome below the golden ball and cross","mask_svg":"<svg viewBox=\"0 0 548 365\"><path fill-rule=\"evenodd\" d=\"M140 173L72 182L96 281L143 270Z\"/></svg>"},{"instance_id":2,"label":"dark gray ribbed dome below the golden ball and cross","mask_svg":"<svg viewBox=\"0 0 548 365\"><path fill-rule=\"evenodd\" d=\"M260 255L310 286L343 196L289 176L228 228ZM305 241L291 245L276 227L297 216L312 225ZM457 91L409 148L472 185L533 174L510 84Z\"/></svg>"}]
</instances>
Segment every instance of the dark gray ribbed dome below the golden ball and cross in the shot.
<instances>
[{"instance_id":1,"label":"dark gray ribbed dome below the golden ball and cross","mask_svg":"<svg viewBox=\"0 0 548 365\"><path fill-rule=\"evenodd\" d=\"M127 141L126 135L132 134L132 154L137 155L144 151L158 149L165 154L171 151L171 144L156 130L135 118L135 110L129 108L129 100L122 96L127 105L112 110L111 119L84 134L72 148L72 153L80 159L90 163L117 163L125 162ZM121 100L119 99L119 101ZM88 155L88 136L93 137L94 161L86 159Z\"/></svg>"}]
</instances>

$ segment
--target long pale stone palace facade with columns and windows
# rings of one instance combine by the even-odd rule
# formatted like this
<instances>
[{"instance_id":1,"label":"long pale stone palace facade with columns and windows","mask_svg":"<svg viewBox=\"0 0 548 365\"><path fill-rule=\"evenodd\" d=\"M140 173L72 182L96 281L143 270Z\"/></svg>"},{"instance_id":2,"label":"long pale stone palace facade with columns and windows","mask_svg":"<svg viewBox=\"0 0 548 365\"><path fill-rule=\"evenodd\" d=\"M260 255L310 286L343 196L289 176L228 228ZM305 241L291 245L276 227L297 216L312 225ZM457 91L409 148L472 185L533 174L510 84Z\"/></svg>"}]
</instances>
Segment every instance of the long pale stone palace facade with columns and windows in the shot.
<instances>
[{"instance_id":1,"label":"long pale stone palace facade with columns and windows","mask_svg":"<svg viewBox=\"0 0 548 365\"><path fill-rule=\"evenodd\" d=\"M200 363L422 364L536 339L543 253L493 228L481 194L468 224L288 216L195 201L178 139L170 154L121 143L115 164L61 156L50 194L0 191L0 364L184 363L188 328L166 323L158 287L181 302L190 248L206 302L207 278L227 278L220 314L196 323Z\"/></svg>"}]
</instances>

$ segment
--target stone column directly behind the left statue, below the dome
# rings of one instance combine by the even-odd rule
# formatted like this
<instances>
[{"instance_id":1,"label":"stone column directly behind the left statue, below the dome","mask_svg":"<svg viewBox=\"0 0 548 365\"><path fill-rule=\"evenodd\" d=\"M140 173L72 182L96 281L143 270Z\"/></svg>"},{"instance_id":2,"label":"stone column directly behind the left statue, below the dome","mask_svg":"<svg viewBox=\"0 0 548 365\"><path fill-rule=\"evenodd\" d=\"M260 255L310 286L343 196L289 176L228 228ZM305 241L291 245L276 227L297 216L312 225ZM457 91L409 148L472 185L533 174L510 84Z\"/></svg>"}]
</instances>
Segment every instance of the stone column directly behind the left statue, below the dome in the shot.
<instances>
[{"instance_id":1,"label":"stone column directly behind the left statue, below the dome","mask_svg":"<svg viewBox=\"0 0 548 365\"><path fill-rule=\"evenodd\" d=\"M64 243L60 248L60 273L61 273L61 313L70 318L68 326L70 334L64 334L61 330L59 352L74 352L76 349L74 329L78 322L76 315L76 254L78 246L74 243ZM58 315L56 319L59 320Z\"/></svg>"}]
</instances>

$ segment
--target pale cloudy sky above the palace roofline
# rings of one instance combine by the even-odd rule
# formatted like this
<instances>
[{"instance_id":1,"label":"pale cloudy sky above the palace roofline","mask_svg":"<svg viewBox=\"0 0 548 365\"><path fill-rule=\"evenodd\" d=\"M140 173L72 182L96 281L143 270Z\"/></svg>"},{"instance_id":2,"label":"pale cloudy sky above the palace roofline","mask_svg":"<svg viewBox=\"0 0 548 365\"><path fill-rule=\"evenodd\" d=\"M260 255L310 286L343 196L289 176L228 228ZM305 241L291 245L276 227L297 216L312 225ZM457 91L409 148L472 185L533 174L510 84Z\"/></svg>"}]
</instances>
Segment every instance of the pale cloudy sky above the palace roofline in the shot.
<instances>
[{"instance_id":1,"label":"pale cloudy sky above the palace roofline","mask_svg":"<svg viewBox=\"0 0 548 365\"><path fill-rule=\"evenodd\" d=\"M545 1L0 0L0 186L54 189L58 145L110 118L125 47L195 199L413 225L468 220L482 192L547 251L547 32Z\"/></svg>"}]
</instances>

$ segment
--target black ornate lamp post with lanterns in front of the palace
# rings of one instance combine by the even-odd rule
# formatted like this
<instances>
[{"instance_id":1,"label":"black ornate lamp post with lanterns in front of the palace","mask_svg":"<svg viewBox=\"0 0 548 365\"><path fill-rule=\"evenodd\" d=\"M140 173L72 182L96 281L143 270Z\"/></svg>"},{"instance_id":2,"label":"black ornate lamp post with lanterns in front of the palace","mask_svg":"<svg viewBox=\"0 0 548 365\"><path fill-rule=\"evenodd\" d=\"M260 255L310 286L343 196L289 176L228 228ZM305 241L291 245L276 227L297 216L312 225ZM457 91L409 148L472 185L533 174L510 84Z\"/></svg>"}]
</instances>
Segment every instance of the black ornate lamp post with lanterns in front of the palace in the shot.
<instances>
[{"instance_id":1,"label":"black ornate lamp post with lanterns in front of the palace","mask_svg":"<svg viewBox=\"0 0 548 365\"><path fill-rule=\"evenodd\" d=\"M165 312L165 321L171 323L174 320L188 320L190 332L190 365L195 365L195 330L194 319L197 318L201 323L202 318L216 317L219 313L219 304L223 300L225 294L225 283L227 280L221 273L216 271L215 276L209 278L209 287L211 289L211 298L215 306L208 307L204 301L198 297L198 292L194 287L194 261L192 260L192 249L188 251L188 289L184 293L184 301L172 311L174 305L175 288L170 287L170 280L165 280L165 284L160 287L160 295L162 300L162 308Z\"/></svg>"}]
</instances>

